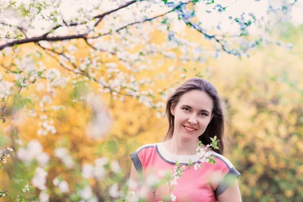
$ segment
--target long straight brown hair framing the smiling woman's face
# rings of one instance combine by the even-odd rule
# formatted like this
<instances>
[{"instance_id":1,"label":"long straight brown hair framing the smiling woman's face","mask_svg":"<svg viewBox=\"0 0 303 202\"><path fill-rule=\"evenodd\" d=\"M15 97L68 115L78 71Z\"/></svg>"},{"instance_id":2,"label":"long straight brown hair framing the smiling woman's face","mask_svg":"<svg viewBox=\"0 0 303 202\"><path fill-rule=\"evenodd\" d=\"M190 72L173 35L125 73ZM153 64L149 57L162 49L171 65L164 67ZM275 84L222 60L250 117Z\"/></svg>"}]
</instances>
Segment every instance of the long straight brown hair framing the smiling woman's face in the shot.
<instances>
[{"instance_id":1,"label":"long straight brown hair framing the smiling woman's face","mask_svg":"<svg viewBox=\"0 0 303 202\"><path fill-rule=\"evenodd\" d=\"M166 112L168 116L169 129L165 136L165 140L171 139L174 133L174 121L175 117L171 113L171 108L175 108L179 102L180 97L190 90L201 90L206 92L213 99L213 119L207 126L205 132L201 134L198 138L199 140L207 145L212 143L210 137L217 136L219 149L214 149L217 153L223 155L224 153L224 111L223 111L223 102L218 95L216 87L211 84L209 81L202 78L191 78L182 83L167 99L166 102Z\"/></svg>"}]
</instances>

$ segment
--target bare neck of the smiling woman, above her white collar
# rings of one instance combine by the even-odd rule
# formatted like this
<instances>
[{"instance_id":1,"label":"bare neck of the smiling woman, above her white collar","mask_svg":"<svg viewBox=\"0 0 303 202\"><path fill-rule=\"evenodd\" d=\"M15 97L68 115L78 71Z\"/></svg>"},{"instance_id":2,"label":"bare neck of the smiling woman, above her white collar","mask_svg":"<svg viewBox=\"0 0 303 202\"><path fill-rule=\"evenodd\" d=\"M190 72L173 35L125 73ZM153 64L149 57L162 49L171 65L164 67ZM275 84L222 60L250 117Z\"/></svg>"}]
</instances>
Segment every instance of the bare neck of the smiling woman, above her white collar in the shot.
<instances>
[{"instance_id":1,"label":"bare neck of the smiling woman, above her white collar","mask_svg":"<svg viewBox=\"0 0 303 202\"><path fill-rule=\"evenodd\" d=\"M181 138L173 136L167 141L166 147L171 154L180 156L189 156L196 154L196 148L199 140L184 141Z\"/></svg>"}]
</instances>

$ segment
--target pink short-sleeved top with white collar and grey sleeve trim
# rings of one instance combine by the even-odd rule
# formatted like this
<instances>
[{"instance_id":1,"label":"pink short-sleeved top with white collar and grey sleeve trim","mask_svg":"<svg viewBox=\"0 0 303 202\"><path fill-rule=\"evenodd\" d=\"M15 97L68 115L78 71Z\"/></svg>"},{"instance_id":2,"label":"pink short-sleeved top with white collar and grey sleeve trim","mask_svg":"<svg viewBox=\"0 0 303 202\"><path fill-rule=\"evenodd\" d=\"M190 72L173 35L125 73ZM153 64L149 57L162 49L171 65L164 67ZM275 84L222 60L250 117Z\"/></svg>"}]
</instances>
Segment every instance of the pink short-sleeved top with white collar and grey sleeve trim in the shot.
<instances>
[{"instance_id":1,"label":"pink short-sleeved top with white collar and grey sleeve trim","mask_svg":"<svg viewBox=\"0 0 303 202\"><path fill-rule=\"evenodd\" d=\"M168 185L158 187L155 194L151 184L164 178L166 171L173 173L175 162L187 165L189 160L197 162L197 155L179 156L169 153L163 142L145 144L130 154L130 158L138 173L142 173L144 185L141 189L141 196L147 201L160 201L170 193L171 201L203 201L216 202L217 196L223 193L229 186L228 182L240 176L240 173L233 167L228 159L215 151L208 151L206 156L215 156L217 163L203 163L200 168L186 170L177 184L170 191ZM187 168L188 166L186 166ZM176 196L176 197L174 197Z\"/></svg>"}]
</instances>

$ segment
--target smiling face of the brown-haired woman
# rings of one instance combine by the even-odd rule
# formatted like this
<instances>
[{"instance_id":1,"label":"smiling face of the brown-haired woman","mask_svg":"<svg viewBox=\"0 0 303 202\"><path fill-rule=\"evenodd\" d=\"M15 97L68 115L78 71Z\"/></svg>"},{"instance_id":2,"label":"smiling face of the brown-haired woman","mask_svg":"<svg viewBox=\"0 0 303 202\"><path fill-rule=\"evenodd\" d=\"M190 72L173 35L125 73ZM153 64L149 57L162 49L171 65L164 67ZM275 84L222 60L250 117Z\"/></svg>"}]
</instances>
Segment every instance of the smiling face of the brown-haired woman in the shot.
<instances>
[{"instance_id":1,"label":"smiling face of the brown-haired woman","mask_svg":"<svg viewBox=\"0 0 303 202\"><path fill-rule=\"evenodd\" d=\"M212 111L213 99L206 92L191 90L184 93L171 109L175 116L173 135L184 141L196 140L211 122Z\"/></svg>"}]
</instances>

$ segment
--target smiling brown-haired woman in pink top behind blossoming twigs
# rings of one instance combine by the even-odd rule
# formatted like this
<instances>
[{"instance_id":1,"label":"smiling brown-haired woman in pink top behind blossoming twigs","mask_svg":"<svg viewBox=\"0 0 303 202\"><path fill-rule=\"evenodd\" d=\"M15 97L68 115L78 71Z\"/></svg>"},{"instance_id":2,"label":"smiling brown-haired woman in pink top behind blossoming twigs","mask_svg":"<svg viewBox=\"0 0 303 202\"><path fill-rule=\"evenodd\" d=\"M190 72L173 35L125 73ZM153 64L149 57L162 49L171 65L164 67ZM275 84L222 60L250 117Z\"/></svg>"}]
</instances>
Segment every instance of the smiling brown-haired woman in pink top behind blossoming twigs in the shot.
<instances>
[{"instance_id":1,"label":"smiling brown-haired woman in pink top behind blossoming twigs","mask_svg":"<svg viewBox=\"0 0 303 202\"><path fill-rule=\"evenodd\" d=\"M133 162L128 198L144 197L147 201L238 202L241 200L237 178L240 175L224 154L224 113L216 88L205 79L191 78L181 84L167 100L169 129L164 142L146 144L130 154ZM217 137L219 149L208 151L216 163L200 163L200 168L187 169L198 162L196 148ZM184 172L174 188L161 181L165 171L173 171L175 162ZM140 180L142 179L142 183ZM169 196L169 197L168 197Z\"/></svg>"}]
</instances>

